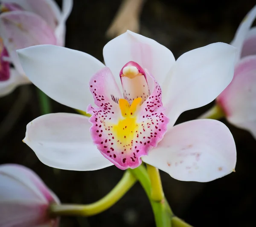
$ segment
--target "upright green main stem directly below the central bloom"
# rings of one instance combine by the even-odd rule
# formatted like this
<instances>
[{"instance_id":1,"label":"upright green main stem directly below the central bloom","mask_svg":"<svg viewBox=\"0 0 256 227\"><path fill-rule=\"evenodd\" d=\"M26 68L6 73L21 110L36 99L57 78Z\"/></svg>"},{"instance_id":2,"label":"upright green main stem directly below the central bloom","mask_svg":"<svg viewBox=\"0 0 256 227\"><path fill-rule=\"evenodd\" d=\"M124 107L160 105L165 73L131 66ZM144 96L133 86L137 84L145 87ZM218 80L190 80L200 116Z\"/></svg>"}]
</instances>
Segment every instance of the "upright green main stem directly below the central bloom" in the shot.
<instances>
[{"instance_id":1,"label":"upright green main stem directly below the central bloom","mask_svg":"<svg viewBox=\"0 0 256 227\"><path fill-rule=\"evenodd\" d=\"M162 201L154 201L151 198L151 181L148 176L147 170L143 165L139 167L129 170L134 176L139 180L140 184L144 188L148 199L151 203L151 207L153 209L154 218L157 227L171 227L171 218L173 216L172 210L169 207L166 199Z\"/></svg>"}]
</instances>

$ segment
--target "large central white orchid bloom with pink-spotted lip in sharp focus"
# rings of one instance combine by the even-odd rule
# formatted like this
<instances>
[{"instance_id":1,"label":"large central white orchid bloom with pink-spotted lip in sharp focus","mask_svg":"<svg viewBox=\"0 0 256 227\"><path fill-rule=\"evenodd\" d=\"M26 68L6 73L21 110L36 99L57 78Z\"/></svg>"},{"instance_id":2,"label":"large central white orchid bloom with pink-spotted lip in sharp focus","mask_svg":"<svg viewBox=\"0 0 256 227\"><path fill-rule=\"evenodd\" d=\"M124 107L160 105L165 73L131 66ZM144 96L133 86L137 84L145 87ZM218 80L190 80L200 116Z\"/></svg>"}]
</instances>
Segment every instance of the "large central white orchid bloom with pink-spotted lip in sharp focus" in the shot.
<instances>
[{"instance_id":1,"label":"large central white orchid bloom with pink-spotted lip in sharp focus","mask_svg":"<svg viewBox=\"0 0 256 227\"><path fill-rule=\"evenodd\" d=\"M17 52L38 88L92 114L51 113L27 125L23 142L44 164L125 170L143 161L175 179L198 182L234 170L236 147L223 123L202 119L173 127L180 113L212 102L230 83L233 46L213 43L175 61L168 48L127 31L105 45L106 66L89 54L54 45Z\"/></svg>"}]
</instances>

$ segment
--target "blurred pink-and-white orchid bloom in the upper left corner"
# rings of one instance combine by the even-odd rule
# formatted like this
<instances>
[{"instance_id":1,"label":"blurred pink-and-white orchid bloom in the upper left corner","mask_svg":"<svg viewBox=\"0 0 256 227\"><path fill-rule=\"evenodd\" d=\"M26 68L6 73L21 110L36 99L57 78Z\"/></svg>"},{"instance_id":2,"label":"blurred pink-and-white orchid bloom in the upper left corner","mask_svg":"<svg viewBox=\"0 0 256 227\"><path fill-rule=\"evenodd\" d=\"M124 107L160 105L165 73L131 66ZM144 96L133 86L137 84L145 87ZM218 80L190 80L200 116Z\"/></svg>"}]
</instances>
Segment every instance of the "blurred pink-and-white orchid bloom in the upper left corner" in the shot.
<instances>
[{"instance_id":1,"label":"blurred pink-and-white orchid bloom in the upper left corner","mask_svg":"<svg viewBox=\"0 0 256 227\"><path fill-rule=\"evenodd\" d=\"M30 83L18 60L17 49L39 44L64 45L65 22L73 1L63 0L62 11L53 0L0 2L0 96L4 96L18 85Z\"/></svg>"}]
</instances>

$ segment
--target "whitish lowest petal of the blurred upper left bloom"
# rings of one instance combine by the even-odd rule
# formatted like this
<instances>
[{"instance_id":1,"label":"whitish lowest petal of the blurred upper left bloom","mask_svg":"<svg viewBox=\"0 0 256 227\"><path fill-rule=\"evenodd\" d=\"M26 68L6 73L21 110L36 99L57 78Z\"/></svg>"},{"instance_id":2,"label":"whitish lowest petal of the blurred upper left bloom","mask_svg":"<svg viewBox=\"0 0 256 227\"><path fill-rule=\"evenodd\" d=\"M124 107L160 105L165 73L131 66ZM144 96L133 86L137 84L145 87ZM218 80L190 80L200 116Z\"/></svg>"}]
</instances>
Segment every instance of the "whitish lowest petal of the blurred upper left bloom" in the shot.
<instances>
[{"instance_id":1,"label":"whitish lowest petal of the blurred upper left bloom","mask_svg":"<svg viewBox=\"0 0 256 227\"><path fill-rule=\"evenodd\" d=\"M29 84L28 78L22 76L15 69L10 69L10 77L6 81L0 81L0 97L10 94L18 85Z\"/></svg>"}]
</instances>

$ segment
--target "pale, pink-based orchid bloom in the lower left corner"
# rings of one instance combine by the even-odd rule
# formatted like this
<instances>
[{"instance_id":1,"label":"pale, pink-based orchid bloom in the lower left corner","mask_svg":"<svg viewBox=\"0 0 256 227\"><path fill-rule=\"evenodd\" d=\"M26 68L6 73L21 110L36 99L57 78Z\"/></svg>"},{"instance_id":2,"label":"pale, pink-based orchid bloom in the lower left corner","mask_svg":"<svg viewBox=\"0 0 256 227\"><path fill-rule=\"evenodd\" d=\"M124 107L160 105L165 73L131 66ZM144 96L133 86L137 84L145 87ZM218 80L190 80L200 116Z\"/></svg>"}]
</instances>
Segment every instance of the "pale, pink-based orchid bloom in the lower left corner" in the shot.
<instances>
[{"instance_id":1,"label":"pale, pink-based orchid bloom in the lower left corner","mask_svg":"<svg viewBox=\"0 0 256 227\"><path fill-rule=\"evenodd\" d=\"M0 165L0 226L57 227L48 215L58 198L30 169L15 164Z\"/></svg>"}]
</instances>

